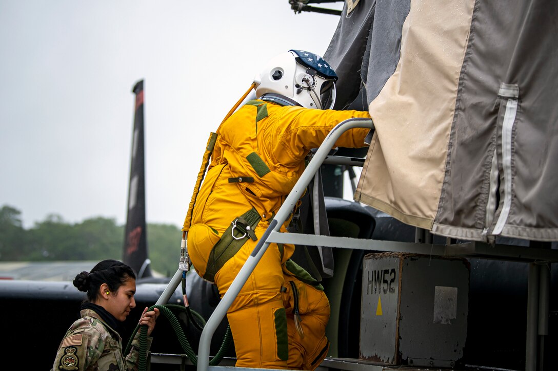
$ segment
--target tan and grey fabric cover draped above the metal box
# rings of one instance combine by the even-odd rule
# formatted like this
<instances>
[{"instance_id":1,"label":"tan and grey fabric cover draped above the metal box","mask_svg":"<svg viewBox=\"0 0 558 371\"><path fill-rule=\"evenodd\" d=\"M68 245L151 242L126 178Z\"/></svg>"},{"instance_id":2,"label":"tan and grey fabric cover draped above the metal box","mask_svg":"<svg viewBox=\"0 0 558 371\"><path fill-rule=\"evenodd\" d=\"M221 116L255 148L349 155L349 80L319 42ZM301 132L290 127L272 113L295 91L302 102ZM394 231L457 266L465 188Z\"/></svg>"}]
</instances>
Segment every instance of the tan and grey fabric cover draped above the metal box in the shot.
<instances>
[{"instance_id":1,"label":"tan and grey fabric cover draped above the metal box","mask_svg":"<svg viewBox=\"0 0 558 371\"><path fill-rule=\"evenodd\" d=\"M556 19L555 0L345 6L336 108L376 126L355 201L442 236L558 240Z\"/></svg>"}]
</instances>

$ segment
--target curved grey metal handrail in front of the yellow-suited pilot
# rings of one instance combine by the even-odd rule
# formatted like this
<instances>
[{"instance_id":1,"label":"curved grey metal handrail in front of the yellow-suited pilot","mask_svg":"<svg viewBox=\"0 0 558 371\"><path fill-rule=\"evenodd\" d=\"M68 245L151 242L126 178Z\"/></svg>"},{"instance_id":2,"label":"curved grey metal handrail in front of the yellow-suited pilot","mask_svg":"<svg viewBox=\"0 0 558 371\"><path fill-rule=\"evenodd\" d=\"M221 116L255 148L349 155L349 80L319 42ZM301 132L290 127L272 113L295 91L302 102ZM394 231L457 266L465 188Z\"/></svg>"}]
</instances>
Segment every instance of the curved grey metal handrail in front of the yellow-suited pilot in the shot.
<instances>
[{"instance_id":1,"label":"curved grey metal handrail in front of the yellow-suited pilot","mask_svg":"<svg viewBox=\"0 0 558 371\"><path fill-rule=\"evenodd\" d=\"M270 245L270 242L267 242L267 237L272 231L278 231L281 224L287 220L287 217L291 214L297 201L300 197L302 197L302 194L304 194L304 190L310 183L310 180L314 178L314 175L324 162L324 159L328 155L329 151L334 147L335 142L345 131L354 128L373 129L374 124L371 119L353 118L341 121L341 123L331 129L328 136L326 136L323 143L320 145L318 151L314 154L314 157L312 157L309 164L306 166L306 169L300 176L300 179L296 182L292 191L288 194L285 202L283 202L282 206L279 208L276 216L271 220L270 226L267 227L263 236L259 238L256 247L254 247L254 250L242 266L242 269L240 269L238 275L234 278L233 283L230 285L227 292L225 292L225 295L219 301L217 307L215 307L215 310L209 317L209 320L205 323L203 331L201 331L198 349L198 371L206 371L208 369L211 337L215 333L215 330L223 320L224 316L227 314L227 310L235 297L237 297L240 289L242 289L242 286L244 286L248 277L252 274L254 267L256 267L264 252L266 252L267 247Z\"/></svg>"}]
</instances>

